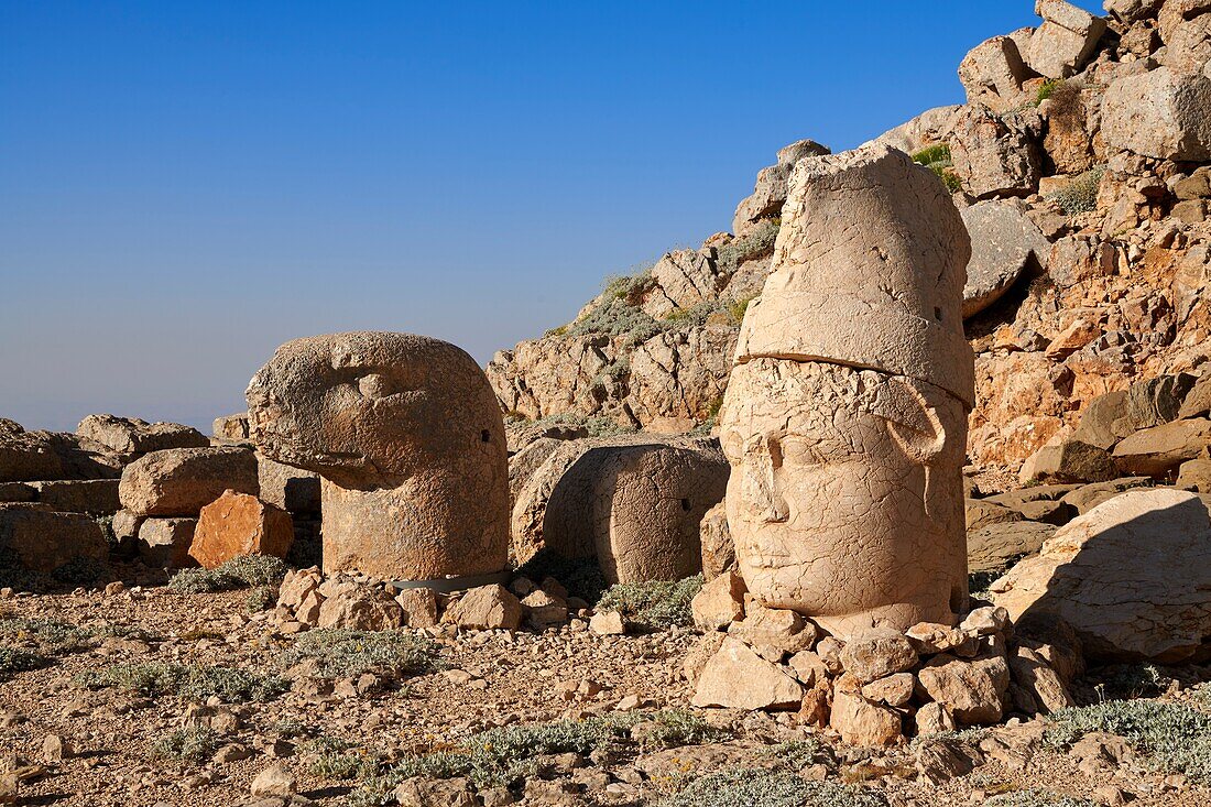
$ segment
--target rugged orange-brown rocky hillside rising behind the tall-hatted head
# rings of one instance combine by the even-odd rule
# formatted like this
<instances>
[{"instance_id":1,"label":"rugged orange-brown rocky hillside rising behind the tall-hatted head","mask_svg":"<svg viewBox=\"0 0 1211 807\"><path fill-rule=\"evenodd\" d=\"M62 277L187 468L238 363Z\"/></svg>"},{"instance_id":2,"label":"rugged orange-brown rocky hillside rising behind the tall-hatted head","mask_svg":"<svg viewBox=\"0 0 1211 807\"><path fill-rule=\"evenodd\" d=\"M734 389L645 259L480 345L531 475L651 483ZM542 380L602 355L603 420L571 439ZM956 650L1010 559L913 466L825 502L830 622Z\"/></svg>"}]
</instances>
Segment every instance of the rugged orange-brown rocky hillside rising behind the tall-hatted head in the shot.
<instances>
[{"instance_id":1,"label":"rugged orange-brown rocky hillside rising behind the tall-hatted head","mask_svg":"<svg viewBox=\"0 0 1211 807\"><path fill-rule=\"evenodd\" d=\"M968 102L879 141L929 165L972 236L964 316L976 351L969 456L1017 470L1096 396L1211 355L1211 1L1039 0L1037 28L958 67ZM612 280L566 326L497 354L523 419L682 431L727 385L761 292L799 141L763 168L733 234ZM596 419L596 420L595 420Z\"/></svg>"}]
</instances>

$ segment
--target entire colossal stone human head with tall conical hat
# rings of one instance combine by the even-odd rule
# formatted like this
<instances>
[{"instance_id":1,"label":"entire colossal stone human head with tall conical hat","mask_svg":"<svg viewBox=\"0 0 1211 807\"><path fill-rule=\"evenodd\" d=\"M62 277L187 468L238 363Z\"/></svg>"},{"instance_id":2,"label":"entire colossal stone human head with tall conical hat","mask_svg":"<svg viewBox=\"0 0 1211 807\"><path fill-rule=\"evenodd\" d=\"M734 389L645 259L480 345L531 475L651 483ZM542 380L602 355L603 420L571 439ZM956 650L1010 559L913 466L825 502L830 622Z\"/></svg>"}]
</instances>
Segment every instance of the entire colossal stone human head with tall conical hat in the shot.
<instances>
[{"instance_id":1,"label":"entire colossal stone human head with tall conical hat","mask_svg":"<svg viewBox=\"0 0 1211 807\"><path fill-rule=\"evenodd\" d=\"M966 605L970 242L886 147L800 161L719 413L748 591L849 636Z\"/></svg>"}]
</instances>

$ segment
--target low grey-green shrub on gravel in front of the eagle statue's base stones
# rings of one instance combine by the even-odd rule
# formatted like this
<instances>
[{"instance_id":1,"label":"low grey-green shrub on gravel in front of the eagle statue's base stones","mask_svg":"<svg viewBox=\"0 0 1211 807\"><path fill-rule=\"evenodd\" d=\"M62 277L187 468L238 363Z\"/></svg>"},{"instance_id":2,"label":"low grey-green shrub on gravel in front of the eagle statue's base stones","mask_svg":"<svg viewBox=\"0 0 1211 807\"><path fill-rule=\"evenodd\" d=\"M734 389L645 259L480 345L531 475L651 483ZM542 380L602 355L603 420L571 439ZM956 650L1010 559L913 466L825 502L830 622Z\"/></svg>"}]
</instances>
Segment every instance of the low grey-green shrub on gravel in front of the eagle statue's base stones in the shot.
<instances>
[{"instance_id":1,"label":"low grey-green shrub on gravel in front of the eagle statue's base stones","mask_svg":"<svg viewBox=\"0 0 1211 807\"><path fill-rule=\"evenodd\" d=\"M293 666L306 659L315 659L318 675L331 679L362 672L408 676L438 669L437 646L403 630L309 630L282 653L281 663Z\"/></svg>"}]
</instances>

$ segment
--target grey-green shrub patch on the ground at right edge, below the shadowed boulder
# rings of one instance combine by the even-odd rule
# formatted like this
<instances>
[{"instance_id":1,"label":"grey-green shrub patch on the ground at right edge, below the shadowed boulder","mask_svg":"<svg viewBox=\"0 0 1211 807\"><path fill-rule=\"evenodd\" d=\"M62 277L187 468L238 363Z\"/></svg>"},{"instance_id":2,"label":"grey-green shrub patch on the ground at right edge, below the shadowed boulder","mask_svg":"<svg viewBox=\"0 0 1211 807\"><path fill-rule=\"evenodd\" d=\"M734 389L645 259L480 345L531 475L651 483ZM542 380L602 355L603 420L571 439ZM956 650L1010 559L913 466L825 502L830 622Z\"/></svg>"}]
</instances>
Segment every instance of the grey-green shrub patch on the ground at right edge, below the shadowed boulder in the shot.
<instances>
[{"instance_id":1,"label":"grey-green shrub patch on the ground at right edge, below the shadowed boulder","mask_svg":"<svg viewBox=\"0 0 1211 807\"><path fill-rule=\"evenodd\" d=\"M1052 714L1045 739L1063 748L1090 732L1123 737L1159 771L1211 783L1211 715L1206 712L1161 700L1110 700Z\"/></svg>"}]
</instances>

